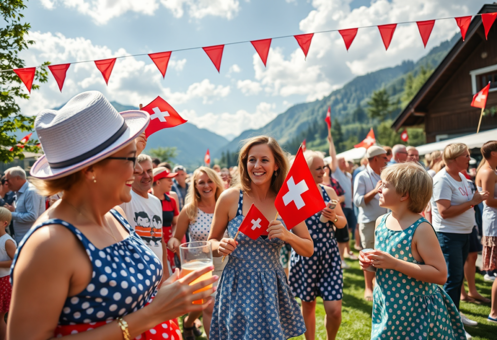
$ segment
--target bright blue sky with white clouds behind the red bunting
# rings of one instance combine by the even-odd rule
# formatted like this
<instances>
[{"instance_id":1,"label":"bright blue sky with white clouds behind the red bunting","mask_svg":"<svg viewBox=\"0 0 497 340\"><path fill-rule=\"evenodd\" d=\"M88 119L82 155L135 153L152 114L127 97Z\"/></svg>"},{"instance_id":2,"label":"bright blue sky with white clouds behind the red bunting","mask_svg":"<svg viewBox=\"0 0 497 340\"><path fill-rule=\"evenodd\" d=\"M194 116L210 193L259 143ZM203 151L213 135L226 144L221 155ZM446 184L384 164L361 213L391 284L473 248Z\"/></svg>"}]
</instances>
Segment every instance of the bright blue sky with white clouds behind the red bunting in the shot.
<instances>
[{"instance_id":1,"label":"bright blue sky with white clouds behind the red bunting","mask_svg":"<svg viewBox=\"0 0 497 340\"><path fill-rule=\"evenodd\" d=\"M36 45L26 66L162 52L320 30L476 13L482 0L30 0L24 11ZM435 23L427 50L453 36ZM288 107L321 99L354 76L416 60L426 52L415 24L399 25L387 52L376 28L345 50L338 33L315 35L307 61L294 38L273 40L267 68L250 43L226 46L218 74L202 50L173 53L166 78L148 56L118 59L108 86L93 63L72 65L62 93L48 84L19 102L34 115L84 90L138 106L166 99L191 123L233 137Z\"/></svg>"}]
</instances>

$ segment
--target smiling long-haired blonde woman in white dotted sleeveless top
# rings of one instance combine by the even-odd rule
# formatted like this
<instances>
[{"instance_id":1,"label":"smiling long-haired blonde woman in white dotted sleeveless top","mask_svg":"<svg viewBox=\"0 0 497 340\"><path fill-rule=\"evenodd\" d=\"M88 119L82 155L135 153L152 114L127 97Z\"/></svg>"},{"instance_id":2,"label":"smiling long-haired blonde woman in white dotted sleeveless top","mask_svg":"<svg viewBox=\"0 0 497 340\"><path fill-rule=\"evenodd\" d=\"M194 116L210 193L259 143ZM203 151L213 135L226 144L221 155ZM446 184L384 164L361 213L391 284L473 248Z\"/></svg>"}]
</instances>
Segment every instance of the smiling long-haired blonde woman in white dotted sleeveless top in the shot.
<instances>
[{"instance_id":1,"label":"smiling long-haired blonde woman in white dotted sleeveless top","mask_svg":"<svg viewBox=\"0 0 497 340\"><path fill-rule=\"evenodd\" d=\"M204 166L193 172L192 183L193 185L189 186L186 194L185 206L179 213L174 236L167 243L167 247L174 251L179 247L180 240L187 231L192 242L207 241L214 216L214 208L224 190L221 177L214 170ZM221 258L214 258L213 274L221 276L227 263L228 261L221 262ZM217 283L216 281L214 286L217 286ZM215 293L213 296L215 296ZM203 312L188 314L188 317L183 321L185 340L195 339L193 336L193 322L200 315L203 315L202 321L205 333L209 334L212 308L213 306L209 306Z\"/></svg>"}]
</instances>

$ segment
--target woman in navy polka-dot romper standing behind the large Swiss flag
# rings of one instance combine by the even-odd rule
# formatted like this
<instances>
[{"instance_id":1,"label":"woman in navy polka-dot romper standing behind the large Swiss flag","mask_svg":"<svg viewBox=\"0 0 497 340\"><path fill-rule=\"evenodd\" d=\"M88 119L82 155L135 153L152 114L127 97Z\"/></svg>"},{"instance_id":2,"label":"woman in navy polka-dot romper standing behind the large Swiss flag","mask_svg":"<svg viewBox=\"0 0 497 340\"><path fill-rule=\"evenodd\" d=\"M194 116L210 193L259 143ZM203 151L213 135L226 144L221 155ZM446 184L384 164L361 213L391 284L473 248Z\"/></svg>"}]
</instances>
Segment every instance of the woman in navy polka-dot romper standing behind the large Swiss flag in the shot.
<instances>
[{"instance_id":1,"label":"woman in navy polka-dot romper standing behind the large Swiss flag","mask_svg":"<svg viewBox=\"0 0 497 340\"><path fill-rule=\"evenodd\" d=\"M326 203L338 200L331 187L321 185L325 174L322 154L307 150L304 152L314 181ZM323 216L328 221L322 222ZM306 339L315 339L316 334L316 297L323 298L326 312L326 332L328 339L336 337L341 323L341 300L343 275L340 253L334 237L333 225L343 228L347 224L340 204L334 209L326 208L306 219L309 233L314 241L314 254L303 257L292 251L290 263L290 286L295 296L302 300L302 315L306 322Z\"/></svg>"}]
</instances>

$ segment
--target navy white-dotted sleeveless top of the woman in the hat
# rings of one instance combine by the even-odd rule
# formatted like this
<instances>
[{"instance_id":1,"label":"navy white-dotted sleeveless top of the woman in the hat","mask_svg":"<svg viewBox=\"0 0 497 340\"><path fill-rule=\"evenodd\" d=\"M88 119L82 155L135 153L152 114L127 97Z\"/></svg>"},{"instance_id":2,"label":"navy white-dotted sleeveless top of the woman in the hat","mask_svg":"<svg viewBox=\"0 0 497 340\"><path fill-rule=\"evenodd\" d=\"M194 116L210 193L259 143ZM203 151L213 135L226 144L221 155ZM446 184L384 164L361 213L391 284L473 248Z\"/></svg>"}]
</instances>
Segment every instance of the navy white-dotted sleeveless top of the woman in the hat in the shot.
<instances>
[{"instance_id":1,"label":"navy white-dotted sleeveless top of the woman in the hat","mask_svg":"<svg viewBox=\"0 0 497 340\"><path fill-rule=\"evenodd\" d=\"M81 293L66 299L59 325L114 320L135 312L149 301L161 281L163 269L157 256L117 211L111 210L111 213L130 232L130 236L104 249L97 249L81 231L60 219L50 219L31 228L19 244L12 271L26 240L44 225L65 226L76 235L88 254L93 265L92 278Z\"/></svg>"}]
</instances>

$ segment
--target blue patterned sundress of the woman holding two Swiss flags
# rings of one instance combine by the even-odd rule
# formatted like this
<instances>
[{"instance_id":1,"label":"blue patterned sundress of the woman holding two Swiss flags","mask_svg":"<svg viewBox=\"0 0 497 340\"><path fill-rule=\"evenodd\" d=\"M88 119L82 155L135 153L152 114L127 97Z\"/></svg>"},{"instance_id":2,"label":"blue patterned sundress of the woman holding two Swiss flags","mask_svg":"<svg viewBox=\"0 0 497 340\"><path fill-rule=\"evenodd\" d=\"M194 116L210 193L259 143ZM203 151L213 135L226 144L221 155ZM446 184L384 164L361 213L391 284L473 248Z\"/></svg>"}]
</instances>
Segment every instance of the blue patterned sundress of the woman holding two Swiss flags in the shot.
<instances>
[{"instance_id":1,"label":"blue patterned sundress of the woman holding two Swiss flags","mask_svg":"<svg viewBox=\"0 0 497 340\"><path fill-rule=\"evenodd\" d=\"M237 216L228 223L235 237L244 216L240 193ZM230 255L212 314L210 340L283 340L306 331L297 301L279 263L283 241L252 240L243 233Z\"/></svg>"}]
</instances>

